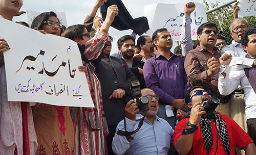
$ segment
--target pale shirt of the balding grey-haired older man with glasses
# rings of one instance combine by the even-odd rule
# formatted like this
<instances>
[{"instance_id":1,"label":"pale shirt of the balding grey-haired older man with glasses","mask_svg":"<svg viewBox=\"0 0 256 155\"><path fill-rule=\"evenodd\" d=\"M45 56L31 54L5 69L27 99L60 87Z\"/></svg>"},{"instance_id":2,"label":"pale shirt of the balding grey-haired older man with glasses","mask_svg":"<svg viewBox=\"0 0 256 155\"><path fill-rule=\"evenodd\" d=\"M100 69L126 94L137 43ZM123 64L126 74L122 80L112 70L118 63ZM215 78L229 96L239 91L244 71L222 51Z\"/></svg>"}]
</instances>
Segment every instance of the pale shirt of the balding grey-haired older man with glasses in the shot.
<instances>
[{"instance_id":1,"label":"pale shirt of the balding grey-haired older man with glasses","mask_svg":"<svg viewBox=\"0 0 256 155\"><path fill-rule=\"evenodd\" d=\"M221 50L221 55L223 54L231 54L232 60L229 64L229 68L231 70L239 70L244 68L250 68L252 67L253 61L255 59L248 59L245 58L245 55L247 54L241 43L238 43L234 40L232 40L232 43L230 45L224 46Z\"/></svg>"}]
</instances>

